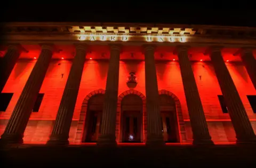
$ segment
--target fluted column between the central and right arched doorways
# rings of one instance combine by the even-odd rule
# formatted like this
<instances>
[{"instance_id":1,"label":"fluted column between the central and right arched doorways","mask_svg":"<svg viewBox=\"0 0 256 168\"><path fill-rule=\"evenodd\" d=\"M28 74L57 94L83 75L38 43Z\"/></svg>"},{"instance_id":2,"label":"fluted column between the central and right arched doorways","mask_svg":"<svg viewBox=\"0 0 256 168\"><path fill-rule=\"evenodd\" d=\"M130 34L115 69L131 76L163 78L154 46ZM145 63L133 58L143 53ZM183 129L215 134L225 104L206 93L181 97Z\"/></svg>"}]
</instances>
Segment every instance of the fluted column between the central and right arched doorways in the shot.
<instances>
[{"instance_id":1,"label":"fluted column between the central and right arched doorways","mask_svg":"<svg viewBox=\"0 0 256 168\"><path fill-rule=\"evenodd\" d=\"M145 54L145 87L147 108L147 141L149 146L163 146L164 139L159 110L159 94L155 66L155 46L143 46Z\"/></svg>"}]
</instances>

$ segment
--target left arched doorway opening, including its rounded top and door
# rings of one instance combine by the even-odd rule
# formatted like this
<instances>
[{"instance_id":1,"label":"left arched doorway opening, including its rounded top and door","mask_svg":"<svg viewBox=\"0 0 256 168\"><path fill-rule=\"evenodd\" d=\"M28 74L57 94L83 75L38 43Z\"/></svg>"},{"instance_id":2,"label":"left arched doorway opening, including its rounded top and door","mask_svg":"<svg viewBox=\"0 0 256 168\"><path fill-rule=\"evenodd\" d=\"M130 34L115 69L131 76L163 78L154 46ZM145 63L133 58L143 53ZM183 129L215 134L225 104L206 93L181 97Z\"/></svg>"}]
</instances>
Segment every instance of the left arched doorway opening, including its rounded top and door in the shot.
<instances>
[{"instance_id":1,"label":"left arched doorway opening, including its rounded top and door","mask_svg":"<svg viewBox=\"0 0 256 168\"><path fill-rule=\"evenodd\" d=\"M82 142L96 142L100 135L104 94L93 95L87 103Z\"/></svg>"}]
</instances>

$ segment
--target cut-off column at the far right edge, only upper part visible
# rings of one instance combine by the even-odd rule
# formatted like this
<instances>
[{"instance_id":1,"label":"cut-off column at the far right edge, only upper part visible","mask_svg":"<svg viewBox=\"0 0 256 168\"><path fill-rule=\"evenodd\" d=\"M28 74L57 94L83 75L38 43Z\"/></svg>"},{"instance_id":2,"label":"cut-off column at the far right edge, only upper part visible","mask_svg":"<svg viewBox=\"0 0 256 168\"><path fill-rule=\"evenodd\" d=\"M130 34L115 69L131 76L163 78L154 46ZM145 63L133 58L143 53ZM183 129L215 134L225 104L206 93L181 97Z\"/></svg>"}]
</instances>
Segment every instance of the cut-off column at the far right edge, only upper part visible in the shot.
<instances>
[{"instance_id":1,"label":"cut-off column at the far right edge, only upper part visible","mask_svg":"<svg viewBox=\"0 0 256 168\"><path fill-rule=\"evenodd\" d=\"M252 48L244 47L241 49L241 58L248 75L251 78L254 89L256 89L256 60L252 53Z\"/></svg>"}]
</instances>

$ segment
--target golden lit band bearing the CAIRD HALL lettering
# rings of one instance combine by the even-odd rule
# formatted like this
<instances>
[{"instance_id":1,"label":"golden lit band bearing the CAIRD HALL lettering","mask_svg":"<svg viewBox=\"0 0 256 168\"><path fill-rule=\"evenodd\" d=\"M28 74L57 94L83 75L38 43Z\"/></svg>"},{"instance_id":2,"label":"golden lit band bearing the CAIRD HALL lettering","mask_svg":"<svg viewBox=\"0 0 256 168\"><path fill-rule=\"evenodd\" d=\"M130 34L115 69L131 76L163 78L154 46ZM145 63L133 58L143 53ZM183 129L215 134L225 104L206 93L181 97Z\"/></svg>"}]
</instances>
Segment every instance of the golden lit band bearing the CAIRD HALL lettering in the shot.
<instances>
[{"instance_id":1,"label":"golden lit band bearing the CAIRD HALL lettering","mask_svg":"<svg viewBox=\"0 0 256 168\"><path fill-rule=\"evenodd\" d=\"M79 41L133 41L128 35L78 35ZM146 42L186 42L186 37L179 36L139 36Z\"/></svg>"}]
</instances>

